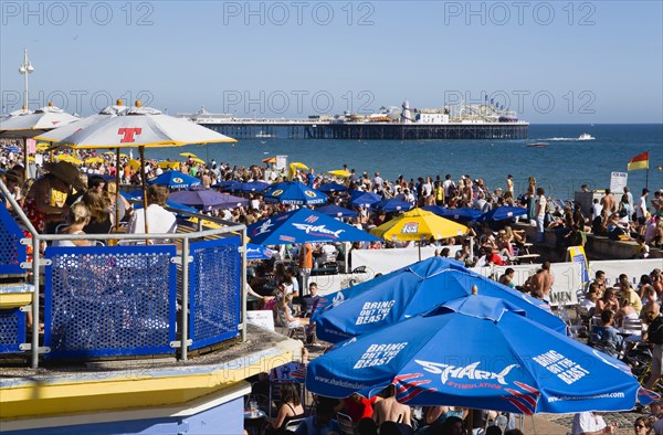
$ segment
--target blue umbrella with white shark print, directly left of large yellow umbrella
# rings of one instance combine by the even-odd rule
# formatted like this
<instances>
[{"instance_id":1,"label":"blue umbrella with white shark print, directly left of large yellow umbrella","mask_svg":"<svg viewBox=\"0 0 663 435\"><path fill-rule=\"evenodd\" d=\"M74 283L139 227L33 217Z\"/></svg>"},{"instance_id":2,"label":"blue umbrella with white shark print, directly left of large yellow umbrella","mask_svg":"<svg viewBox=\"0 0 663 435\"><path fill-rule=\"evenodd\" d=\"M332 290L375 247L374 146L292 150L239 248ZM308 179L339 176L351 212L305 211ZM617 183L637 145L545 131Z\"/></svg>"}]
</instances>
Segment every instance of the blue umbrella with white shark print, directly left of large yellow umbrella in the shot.
<instances>
[{"instance_id":1,"label":"blue umbrella with white shark print, directly left of large yellow umbrella","mask_svg":"<svg viewBox=\"0 0 663 435\"><path fill-rule=\"evenodd\" d=\"M378 237L309 209L293 210L249 225L252 243L375 242Z\"/></svg>"}]
</instances>

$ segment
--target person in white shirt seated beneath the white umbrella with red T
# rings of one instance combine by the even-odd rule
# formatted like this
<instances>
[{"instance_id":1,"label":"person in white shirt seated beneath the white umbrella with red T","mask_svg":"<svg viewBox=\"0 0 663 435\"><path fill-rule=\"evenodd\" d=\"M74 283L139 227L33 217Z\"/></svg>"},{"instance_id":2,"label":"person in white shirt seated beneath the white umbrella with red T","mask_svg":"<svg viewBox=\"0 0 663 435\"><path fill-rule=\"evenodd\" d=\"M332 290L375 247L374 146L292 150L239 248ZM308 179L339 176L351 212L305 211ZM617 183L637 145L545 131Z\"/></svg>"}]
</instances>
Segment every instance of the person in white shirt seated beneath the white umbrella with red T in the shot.
<instances>
[{"instance_id":1,"label":"person in white shirt seated beneath the white umbrella with red T","mask_svg":"<svg viewBox=\"0 0 663 435\"><path fill-rule=\"evenodd\" d=\"M150 233L175 233L177 230L177 219L175 213L164 209L168 199L168 189L162 185L152 184L147 189L146 210L137 210L130 221L127 233L145 234L145 215L147 214L147 230ZM155 241L155 243L167 243L165 240Z\"/></svg>"}]
</instances>

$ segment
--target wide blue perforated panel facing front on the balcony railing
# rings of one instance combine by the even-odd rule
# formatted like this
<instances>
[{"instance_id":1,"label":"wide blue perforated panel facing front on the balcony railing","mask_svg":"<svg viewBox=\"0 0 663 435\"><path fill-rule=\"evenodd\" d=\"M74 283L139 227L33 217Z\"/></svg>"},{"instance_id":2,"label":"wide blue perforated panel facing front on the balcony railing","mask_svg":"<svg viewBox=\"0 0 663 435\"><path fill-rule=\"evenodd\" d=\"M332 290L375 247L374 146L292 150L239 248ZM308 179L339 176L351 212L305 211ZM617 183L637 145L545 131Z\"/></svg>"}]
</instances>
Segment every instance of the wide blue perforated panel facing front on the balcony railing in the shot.
<instances>
[{"instance_id":1,"label":"wide blue perforated panel facing front on the balcony railing","mask_svg":"<svg viewBox=\"0 0 663 435\"><path fill-rule=\"evenodd\" d=\"M175 245L49 247L48 358L172 353Z\"/></svg>"}]
</instances>

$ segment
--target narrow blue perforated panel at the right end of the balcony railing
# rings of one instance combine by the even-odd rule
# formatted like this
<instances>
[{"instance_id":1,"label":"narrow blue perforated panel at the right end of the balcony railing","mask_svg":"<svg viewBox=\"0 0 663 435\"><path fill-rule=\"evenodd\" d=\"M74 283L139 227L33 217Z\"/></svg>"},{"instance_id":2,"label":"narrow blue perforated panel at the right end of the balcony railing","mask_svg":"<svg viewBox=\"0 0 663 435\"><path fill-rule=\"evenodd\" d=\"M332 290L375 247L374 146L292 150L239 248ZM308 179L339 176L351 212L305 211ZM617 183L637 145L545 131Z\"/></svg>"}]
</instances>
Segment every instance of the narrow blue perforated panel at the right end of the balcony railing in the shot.
<instances>
[{"instance_id":1,"label":"narrow blue perforated panel at the right end of the balcony railing","mask_svg":"<svg viewBox=\"0 0 663 435\"><path fill-rule=\"evenodd\" d=\"M240 237L191 244L189 319L191 349L239 335Z\"/></svg>"}]
</instances>

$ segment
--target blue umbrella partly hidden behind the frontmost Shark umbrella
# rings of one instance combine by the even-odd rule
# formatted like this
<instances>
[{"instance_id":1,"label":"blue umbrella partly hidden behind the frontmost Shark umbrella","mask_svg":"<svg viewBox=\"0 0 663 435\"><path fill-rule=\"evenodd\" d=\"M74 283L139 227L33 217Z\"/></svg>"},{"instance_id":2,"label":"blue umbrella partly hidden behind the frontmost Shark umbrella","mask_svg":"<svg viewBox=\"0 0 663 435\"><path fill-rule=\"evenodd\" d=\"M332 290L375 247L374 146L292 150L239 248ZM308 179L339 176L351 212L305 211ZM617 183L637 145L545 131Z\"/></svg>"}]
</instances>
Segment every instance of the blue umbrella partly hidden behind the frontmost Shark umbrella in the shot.
<instances>
[{"instance_id":1,"label":"blue umbrella partly hidden behind the frontmost Shark umbrella","mask_svg":"<svg viewBox=\"0 0 663 435\"><path fill-rule=\"evenodd\" d=\"M543 301L474 273L460 262L443 257L428 258L326 295L318 303L318 310L312 320L316 322L319 339L338 342L467 296L474 286L480 295L502 298L527 311L534 321L566 333L566 323L554 316ZM373 306L383 307L379 315L367 311L367 307Z\"/></svg>"}]
</instances>

